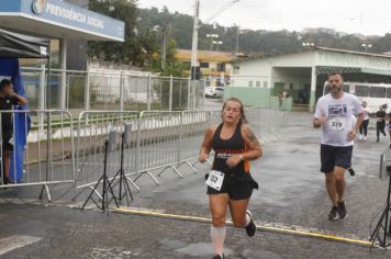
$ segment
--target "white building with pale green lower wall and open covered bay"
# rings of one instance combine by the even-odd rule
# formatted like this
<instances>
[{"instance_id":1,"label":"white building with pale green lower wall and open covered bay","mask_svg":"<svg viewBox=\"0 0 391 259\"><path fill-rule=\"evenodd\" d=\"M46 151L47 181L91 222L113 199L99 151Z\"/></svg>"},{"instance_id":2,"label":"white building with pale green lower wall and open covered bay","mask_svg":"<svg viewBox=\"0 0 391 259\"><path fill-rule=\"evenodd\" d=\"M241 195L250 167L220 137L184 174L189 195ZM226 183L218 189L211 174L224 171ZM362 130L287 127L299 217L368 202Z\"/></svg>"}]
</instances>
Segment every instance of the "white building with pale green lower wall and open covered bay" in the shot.
<instances>
[{"instance_id":1,"label":"white building with pale green lower wall and open covered bay","mask_svg":"<svg viewBox=\"0 0 391 259\"><path fill-rule=\"evenodd\" d=\"M288 92L284 105L313 110L329 72L345 81L391 82L391 56L344 49L311 49L244 60L234 65L225 98L241 98L247 105L278 105L278 94Z\"/></svg>"}]
</instances>

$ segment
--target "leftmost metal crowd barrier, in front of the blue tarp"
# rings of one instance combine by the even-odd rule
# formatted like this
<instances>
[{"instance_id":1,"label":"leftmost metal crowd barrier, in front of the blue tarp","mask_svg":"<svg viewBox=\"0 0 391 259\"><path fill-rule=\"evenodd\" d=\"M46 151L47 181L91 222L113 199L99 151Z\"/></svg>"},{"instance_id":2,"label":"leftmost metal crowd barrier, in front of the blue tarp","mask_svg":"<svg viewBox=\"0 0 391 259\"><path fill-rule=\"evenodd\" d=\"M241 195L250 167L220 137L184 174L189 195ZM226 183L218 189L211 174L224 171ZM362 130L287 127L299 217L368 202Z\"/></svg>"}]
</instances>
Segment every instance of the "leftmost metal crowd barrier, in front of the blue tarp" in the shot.
<instances>
[{"instance_id":1,"label":"leftmost metal crowd barrier, in front of the blue tarp","mask_svg":"<svg viewBox=\"0 0 391 259\"><path fill-rule=\"evenodd\" d=\"M12 120L12 137L3 139L9 128L0 126L0 164L1 176L4 173L7 146L10 151L10 170L8 184L0 179L0 189L29 185L42 185L51 201L48 185L74 183L74 128L72 116L63 110L13 110L0 111L0 125L9 115ZM3 134L4 133L4 134ZM9 143L7 144L5 143Z\"/></svg>"}]
</instances>

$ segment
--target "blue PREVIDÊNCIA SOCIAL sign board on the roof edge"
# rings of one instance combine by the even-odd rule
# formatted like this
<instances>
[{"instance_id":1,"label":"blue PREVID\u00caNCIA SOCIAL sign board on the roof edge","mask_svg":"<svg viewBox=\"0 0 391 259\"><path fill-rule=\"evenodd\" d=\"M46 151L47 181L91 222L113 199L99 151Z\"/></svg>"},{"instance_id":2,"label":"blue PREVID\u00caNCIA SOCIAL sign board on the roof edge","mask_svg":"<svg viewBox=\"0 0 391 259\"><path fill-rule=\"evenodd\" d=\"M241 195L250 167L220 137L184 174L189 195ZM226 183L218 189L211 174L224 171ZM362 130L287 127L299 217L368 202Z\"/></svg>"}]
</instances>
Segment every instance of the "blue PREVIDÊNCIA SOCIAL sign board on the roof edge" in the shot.
<instances>
[{"instance_id":1,"label":"blue PREVID\u00caNCIA SOCIAL sign board on the roof edge","mask_svg":"<svg viewBox=\"0 0 391 259\"><path fill-rule=\"evenodd\" d=\"M0 15L7 13L20 13L62 27L124 41L124 22L60 0L0 0Z\"/></svg>"}]
</instances>

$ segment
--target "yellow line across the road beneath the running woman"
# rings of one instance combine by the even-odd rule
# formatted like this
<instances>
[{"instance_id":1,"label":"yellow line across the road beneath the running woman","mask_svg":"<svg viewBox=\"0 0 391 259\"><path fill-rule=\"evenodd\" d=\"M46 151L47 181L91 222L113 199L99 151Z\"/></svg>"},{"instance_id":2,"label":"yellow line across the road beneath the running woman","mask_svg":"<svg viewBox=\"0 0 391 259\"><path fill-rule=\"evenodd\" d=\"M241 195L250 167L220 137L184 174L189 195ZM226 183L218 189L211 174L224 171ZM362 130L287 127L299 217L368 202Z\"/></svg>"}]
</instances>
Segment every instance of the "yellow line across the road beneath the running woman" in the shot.
<instances>
[{"instance_id":1,"label":"yellow line across the road beneath the running woman","mask_svg":"<svg viewBox=\"0 0 391 259\"><path fill-rule=\"evenodd\" d=\"M136 209L132 209L132 207L120 207L120 209L115 209L114 212L124 213L124 214L143 215L143 216L165 217L165 218L180 219L180 221L212 223L212 219L209 217L168 214L168 213L160 213L160 212L148 211L148 210L136 210ZM226 223L228 225L233 225L233 223L230 221ZM304 236L304 237L314 237L314 238L347 243L347 244L353 244L353 245L361 245L361 246L371 246L372 245L372 243L370 243L368 240L342 237L342 236L336 236L336 235L332 235L332 234L323 234L323 233L316 233L316 232L294 229L295 227L289 228L289 227L282 227L282 226L269 226L269 225L265 225L265 224L261 224L261 225L257 224L257 227L261 230L272 232L272 233L299 235L299 236Z\"/></svg>"}]
</instances>

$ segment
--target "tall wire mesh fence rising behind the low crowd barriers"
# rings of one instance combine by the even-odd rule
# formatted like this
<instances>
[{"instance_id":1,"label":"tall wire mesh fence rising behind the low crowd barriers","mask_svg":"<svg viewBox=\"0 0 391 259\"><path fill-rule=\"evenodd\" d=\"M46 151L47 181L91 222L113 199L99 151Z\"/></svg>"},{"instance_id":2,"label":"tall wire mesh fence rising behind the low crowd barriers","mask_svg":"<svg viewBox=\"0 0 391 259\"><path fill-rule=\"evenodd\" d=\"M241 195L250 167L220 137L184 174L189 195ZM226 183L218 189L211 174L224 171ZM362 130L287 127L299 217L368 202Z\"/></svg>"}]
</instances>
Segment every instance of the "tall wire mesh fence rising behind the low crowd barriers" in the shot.
<instances>
[{"instance_id":1,"label":"tall wire mesh fence rising behind the low crowd barriers","mask_svg":"<svg viewBox=\"0 0 391 259\"><path fill-rule=\"evenodd\" d=\"M204 105L204 82L191 83L189 78L137 75L116 70L51 70L47 91L47 69L22 68L26 99L32 109L51 108L79 114L85 110L190 110ZM51 97L46 93L51 92Z\"/></svg>"}]
</instances>

